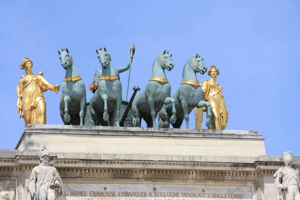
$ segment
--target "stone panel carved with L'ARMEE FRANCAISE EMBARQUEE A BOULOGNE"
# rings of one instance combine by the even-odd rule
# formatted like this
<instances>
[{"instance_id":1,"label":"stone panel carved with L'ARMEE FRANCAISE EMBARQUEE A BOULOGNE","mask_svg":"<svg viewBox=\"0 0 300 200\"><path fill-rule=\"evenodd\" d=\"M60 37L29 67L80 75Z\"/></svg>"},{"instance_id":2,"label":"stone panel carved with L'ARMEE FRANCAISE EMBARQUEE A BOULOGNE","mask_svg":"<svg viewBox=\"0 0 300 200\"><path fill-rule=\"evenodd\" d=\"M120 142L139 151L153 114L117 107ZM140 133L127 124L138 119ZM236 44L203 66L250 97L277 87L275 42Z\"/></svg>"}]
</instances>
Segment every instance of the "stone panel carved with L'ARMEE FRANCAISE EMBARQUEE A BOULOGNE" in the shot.
<instances>
[{"instance_id":1,"label":"stone panel carved with L'ARMEE FRANCAISE EMBARQUEE A BOULOGNE","mask_svg":"<svg viewBox=\"0 0 300 200\"><path fill-rule=\"evenodd\" d=\"M253 199L250 186L65 183L62 199L213 200Z\"/></svg>"}]
</instances>

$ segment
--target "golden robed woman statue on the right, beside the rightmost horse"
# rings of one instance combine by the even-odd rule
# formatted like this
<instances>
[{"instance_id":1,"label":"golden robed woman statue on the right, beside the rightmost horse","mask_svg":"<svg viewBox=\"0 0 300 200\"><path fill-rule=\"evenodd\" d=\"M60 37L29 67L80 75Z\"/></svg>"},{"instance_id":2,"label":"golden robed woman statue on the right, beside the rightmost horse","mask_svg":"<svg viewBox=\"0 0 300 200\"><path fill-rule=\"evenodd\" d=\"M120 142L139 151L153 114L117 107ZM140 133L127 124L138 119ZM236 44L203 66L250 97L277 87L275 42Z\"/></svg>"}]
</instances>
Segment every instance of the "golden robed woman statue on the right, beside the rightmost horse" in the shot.
<instances>
[{"instance_id":1,"label":"golden robed woman statue on the right, beside the rightmost horse","mask_svg":"<svg viewBox=\"0 0 300 200\"><path fill-rule=\"evenodd\" d=\"M212 123L208 129L225 129L229 118L228 110L222 94L222 87L215 82L219 70L215 65L211 65L208 70L209 80L204 80L201 87L203 89L203 99L210 103Z\"/></svg>"}]
</instances>

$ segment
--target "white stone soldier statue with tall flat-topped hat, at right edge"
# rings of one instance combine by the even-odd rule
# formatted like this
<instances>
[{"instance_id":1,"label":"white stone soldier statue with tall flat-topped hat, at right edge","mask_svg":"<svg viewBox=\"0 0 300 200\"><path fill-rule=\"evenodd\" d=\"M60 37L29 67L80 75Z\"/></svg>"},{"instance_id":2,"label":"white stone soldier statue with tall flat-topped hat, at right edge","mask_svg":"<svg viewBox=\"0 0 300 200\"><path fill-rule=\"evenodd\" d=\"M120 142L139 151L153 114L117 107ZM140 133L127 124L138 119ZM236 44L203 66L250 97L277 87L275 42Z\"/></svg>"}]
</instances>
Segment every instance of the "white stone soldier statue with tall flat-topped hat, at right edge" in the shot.
<instances>
[{"instance_id":1,"label":"white stone soldier statue with tall flat-topped hat, at right edge","mask_svg":"<svg viewBox=\"0 0 300 200\"><path fill-rule=\"evenodd\" d=\"M273 175L277 200L300 200L300 179L297 169L292 167L292 152L282 154L285 163Z\"/></svg>"}]
</instances>

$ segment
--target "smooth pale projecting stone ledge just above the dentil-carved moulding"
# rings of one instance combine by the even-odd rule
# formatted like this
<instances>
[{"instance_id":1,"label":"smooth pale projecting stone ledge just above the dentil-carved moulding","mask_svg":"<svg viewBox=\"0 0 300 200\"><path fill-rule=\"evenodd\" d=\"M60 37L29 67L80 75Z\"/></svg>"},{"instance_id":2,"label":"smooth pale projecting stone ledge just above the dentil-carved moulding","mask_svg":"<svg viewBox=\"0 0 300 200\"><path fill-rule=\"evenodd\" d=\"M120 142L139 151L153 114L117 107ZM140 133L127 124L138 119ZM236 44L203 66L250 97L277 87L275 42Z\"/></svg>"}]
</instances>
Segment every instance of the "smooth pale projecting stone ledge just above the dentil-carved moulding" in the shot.
<instances>
[{"instance_id":1,"label":"smooth pale projecting stone ledge just above the dentil-carved moulding","mask_svg":"<svg viewBox=\"0 0 300 200\"><path fill-rule=\"evenodd\" d=\"M26 149L1 150L0 159L16 157L36 158L40 150ZM283 157L278 155L260 155L258 157L240 156L204 156L204 155L157 155L157 154L117 154L117 153L74 153L74 152L52 152L50 156L55 159L81 159L81 160L144 160L144 161L180 161L180 162L219 162L219 163L254 163L259 162L265 166L274 162L283 163ZM293 157L293 164L300 165L300 156Z\"/></svg>"}]
</instances>

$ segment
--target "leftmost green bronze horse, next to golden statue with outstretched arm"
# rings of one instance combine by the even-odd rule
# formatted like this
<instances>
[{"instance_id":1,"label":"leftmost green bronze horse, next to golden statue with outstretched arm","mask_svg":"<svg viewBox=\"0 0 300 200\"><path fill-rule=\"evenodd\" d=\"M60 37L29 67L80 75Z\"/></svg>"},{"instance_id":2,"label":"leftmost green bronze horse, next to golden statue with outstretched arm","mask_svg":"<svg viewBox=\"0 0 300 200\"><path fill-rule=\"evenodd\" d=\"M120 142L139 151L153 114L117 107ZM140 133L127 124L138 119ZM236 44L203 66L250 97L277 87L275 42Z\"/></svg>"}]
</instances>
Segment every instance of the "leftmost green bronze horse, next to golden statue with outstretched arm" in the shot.
<instances>
[{"instance_id":1,"label":"leftmost green bronze horse, next to golden statue with outstretched arm","mask_svg":"<svg viewBox=\"0 0 300 200\"><path fill-rule=\"evenodd\" d=\"M66 79L61 84L62 89L59 103L61 119L65 125L84 125L86 113L84 82L79 76L74 60L68 53L68 49L61 48L61 52L58 50L58 54L61 65L65 69L64 79Z\"/></svg>"}]
</instances>

